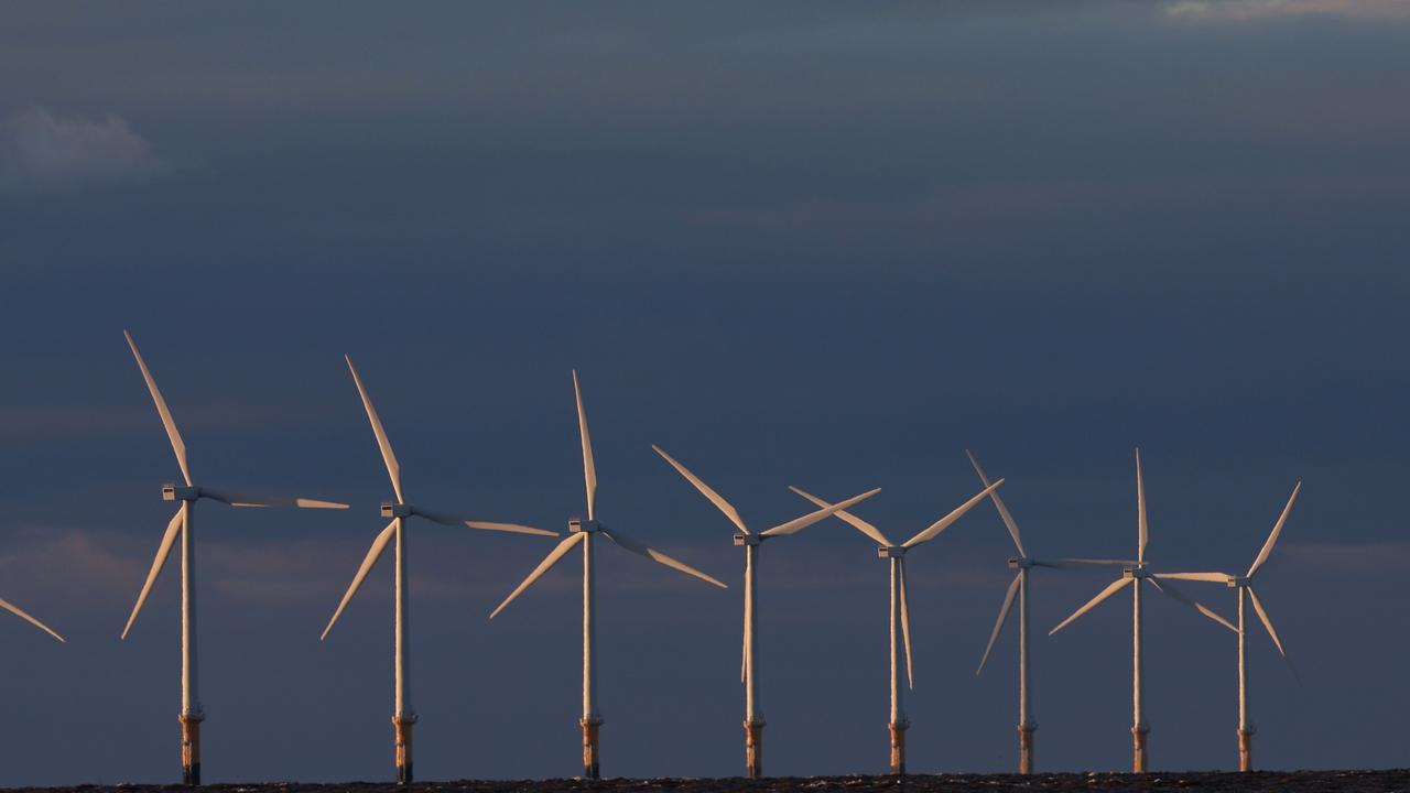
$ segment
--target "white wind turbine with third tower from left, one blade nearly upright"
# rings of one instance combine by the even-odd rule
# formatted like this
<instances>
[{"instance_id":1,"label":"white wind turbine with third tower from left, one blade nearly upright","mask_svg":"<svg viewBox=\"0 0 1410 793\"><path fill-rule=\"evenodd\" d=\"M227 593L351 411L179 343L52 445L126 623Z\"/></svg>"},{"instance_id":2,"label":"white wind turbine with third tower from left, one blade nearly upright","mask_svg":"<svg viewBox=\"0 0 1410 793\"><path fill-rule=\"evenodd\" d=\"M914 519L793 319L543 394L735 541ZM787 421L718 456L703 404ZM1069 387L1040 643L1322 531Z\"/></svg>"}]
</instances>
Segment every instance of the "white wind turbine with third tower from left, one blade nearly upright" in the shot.
<instances>
[{"instance_id":1,"label":"white wind turbine with third tower from left, one blade nearly upright","mask_svg":"<svg viewBox=\"0 0 1410 793\"><path fill-rule=\"evenodd\" d=\"M594 626L596 598L594 594L595 576L592 573L592 546L596 542L595 538L602 535L615 545L630 550L637 556L644 556L651 562L657 562L660 564L666 564L667 567L680 570L681 573L695 576L697 579L709 581L716 587L726 587L719 580L701 573L695 567L673 559L654 547L642 545L640 542L622 533L622 529L608 528L598 522L596 512L594 511L594 495L598 490L598 473L596 467L592 464L592 439L588 435L588 415L582 409L582 391L578 388L577 370L572 371L572 396L578 405L578 436L582 442L582 478L588 491L588 519L584 521L581 518L572 518L568 521L568 536L560 542L557 547L550 550L548 556L544 556L543 562L540 562L539 566L529 573L529 577L515 587L515 591L509 593L509 597L506 597L505 601L489 614L489 618L494 619L495 615L513 603L520 593L527 590L534 581L543 577L544 573L567 556L574 546L582 546L582 720L578 721L578 725L582 727L582 776L588 779L598 779L598 727L602 725L602 714L598 713L598 670L592 662L594 645L596 643L596 629Z\"/></svg>"}]
</instances>

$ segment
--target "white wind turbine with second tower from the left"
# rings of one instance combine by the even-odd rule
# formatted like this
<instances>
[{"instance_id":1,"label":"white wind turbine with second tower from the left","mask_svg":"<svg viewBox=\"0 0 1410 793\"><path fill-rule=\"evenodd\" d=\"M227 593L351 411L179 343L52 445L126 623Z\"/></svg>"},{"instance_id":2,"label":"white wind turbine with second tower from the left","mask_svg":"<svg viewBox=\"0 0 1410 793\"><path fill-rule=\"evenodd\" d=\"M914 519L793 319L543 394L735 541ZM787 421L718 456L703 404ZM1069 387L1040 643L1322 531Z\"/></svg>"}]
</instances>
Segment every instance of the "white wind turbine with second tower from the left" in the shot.
<instances>
[{"instance_id":1,"label":"white wind turbine with second tower from the left","mask_svg":"<svg viewBox=\"0 0 1410 793\"><path fill-rule=\"evenodd\" d=\"M357 574L352 576L352 583L348 586L347 593L343 595L343 601L338 603L337 611L333 612L333 618L329 619L327 628L323 629L323 635L319 641L329 636L329 631L333 629L333 624L338 621L338 615L347 608L352 595L357 594L358 587L362 586L362 579L367 577L376 560L381 559L382 552L386 550L388 543L396 542L396 611L395 611L395 710L392 714L392 735L395 744L395 758L396 758L396 782L399 785L406 785L413 779L412 768L412 724L416 722L416 711L412 708L412 669L410 669L410 614L409 614L409 598L407 591L409 577L406 571L407 564L407 550L406 550L406 532L403 523L407 518L419 516L426 518L434 523L441 523L446 526L467 526L471 529L484 529L491 532L509 532L517 535L539 535L539 536L558 536L557 532L548 532L544 529L534 529L532 526L522 526L517 523L496 523L491 521L470 521L460 518L457 515L447 515L444 512L433 512L430 509L422 509L420 507L412 507L406 502L402 491L402 467L396 463L396 454L392 453L392 444L386 439L386 430L382 429L382 419L376 415L376 408L372 406L372 399L367 395L367 388L362 387L362 378L358 377L357 368L352 365L352 358L343 357L348 364L348 371L352 373L352 382L357 385L357 392L362 398L362 408L367 409L367 419L372 423L372 435L376 436L376 446L382 452L382 461L386 463L386 473L392 478L392 492L396 494L396 501L382 502L382 516L391 518L392 522L386 525L385 529L376 539L372 540L372 547L368 549L367 556L362 559L362 566L358 567Z\"/></svg>"}]
</instances>

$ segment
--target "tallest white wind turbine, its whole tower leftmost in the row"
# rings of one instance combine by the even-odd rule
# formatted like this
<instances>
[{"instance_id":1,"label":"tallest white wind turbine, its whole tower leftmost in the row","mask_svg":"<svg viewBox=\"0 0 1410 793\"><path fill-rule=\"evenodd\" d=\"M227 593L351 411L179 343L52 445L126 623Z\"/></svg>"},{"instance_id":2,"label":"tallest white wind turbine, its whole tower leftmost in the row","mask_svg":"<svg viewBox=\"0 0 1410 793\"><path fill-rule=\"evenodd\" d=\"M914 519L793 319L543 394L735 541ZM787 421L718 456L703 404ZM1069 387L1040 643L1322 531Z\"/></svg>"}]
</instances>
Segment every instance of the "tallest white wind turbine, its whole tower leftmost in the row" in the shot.
<instances>
[{"instance_id":1,"label":"tallest white wind turbine, its whole tower leftmost in the row","mask_svg":"<svg viewBox=\"0 0 1410 793\"><path fill-rule=\"evenodd\" d=\"M186 460L186 443L182 440L180 432L176 430L176 422L166 408L166 401L162 399L162 392L158 391L157 381L152 380L152 373L147 368L147 361L137 350L133 334L124 330L123 336L127 337L127 346L133 349L137 367L142 370L147 389L152 392L152 402L157 404L157 413L162 418L166 437L172 443L172 452L176 453L176 464L180 466L182 480L186 483L185 485L162 485L162 500L179 501L180 508L166 523L166 533L162 535L162 543L157 546L157 557L152 559L147 581L142 584L141 594L137 595L137 605L133 607L127 626L123 628L123 638L125 639L127 632L133 629L137 612L147 603L147 595L152 591L157 576L166 564L166 557L171 556L176 535L180 535L180 766L182 780L186 785L200 785L200 722L206 718L206 713L196 694L196 538L193 535L196 501L209 498L230 507L302 507L306 509L347 509L347 504L312 498L262 498L196 487L190 478L190 464Z\"/></svg>"}]
</instances>

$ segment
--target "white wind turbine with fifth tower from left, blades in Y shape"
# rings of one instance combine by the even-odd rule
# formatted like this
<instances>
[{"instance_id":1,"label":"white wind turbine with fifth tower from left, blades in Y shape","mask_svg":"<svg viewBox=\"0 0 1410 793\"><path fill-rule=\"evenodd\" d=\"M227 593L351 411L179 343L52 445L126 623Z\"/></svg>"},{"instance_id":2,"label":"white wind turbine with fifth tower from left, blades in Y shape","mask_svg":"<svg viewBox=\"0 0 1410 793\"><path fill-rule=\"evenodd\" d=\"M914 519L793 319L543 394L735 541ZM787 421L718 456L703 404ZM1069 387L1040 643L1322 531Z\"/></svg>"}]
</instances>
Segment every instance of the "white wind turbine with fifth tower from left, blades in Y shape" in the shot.
<instances>
[{"instance_id":1,"label":"white wind turbine with fifth tower from left, blades in Y shape","mask_svg":"<svg viewBox=\"0 0 1410 793\"><path fill-rule=\"evenodd\" d=\"M905 711L901 707L901 648L898 643L900 638L905 641L905 677L907 686L915 687L915 674L911 665L911 607L905 594L905 553L918 545L924 545L936 538L943 532L950 523L960 519L962 515L970 511L971 507L984 500L986 495L994 492L994 490L1004 484L1004 480L987 485L977 495L960 504L953 512L940 518L915 535L914 538L897 545L887 539L880 529L871 523L857 518L852 512L839 509L836 516L842 518L853 528L856 528L863 535L876 540L880 547L877 547L877 556L885 559L891 566L891 722L888 730L891 731L891 773L900 776L905 773L905 731L911 727L911 722L905 718ZM826 501L799 490L797 487L790 487L788 490L797 492L798 495L812 501L818 507L832 507Z\"/></svg>"}]
</instances>

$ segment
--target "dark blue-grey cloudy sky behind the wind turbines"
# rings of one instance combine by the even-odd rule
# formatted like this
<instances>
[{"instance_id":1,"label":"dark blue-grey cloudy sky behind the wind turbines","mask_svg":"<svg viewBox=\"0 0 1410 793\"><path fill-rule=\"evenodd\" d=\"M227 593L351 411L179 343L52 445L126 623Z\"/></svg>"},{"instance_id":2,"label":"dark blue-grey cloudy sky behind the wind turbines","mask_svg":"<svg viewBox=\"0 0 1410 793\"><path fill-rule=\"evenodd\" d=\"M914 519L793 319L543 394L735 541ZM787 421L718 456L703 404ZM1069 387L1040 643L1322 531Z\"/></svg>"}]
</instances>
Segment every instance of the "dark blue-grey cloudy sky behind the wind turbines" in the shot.
<instances>
[{"instance_id":1,"label":"dark blue-grey cloudy sky behind the wind turbines","mask_svg":"<svg viewBox=\"0 0 1410 793\"><path fill-rule=\"evenodd\" d=\"M1153 3L11 3L0 10L0 783L179 776L179 573L118 641L179 476L347 501L202 504L210 782L392 775L384 562L409 500L584 511L726 580L599 555L608 776L743 772L754 528L881 487L909 536L993 476L1036 556L1241 571L1303 481L1251 636L1255 762L1404 766L1410 11ZM580 763L578 571L410 529L416 770ZM1017 765L1012 545L976 508L909 557L909 768ZM1034 576L1038 766L1124 769L1124 598ZM839 521L760 574L766 770L883 772L887 573ZM1186 587L1232 617L1220 586ZM1152 766L1237 768L1232 634L1146 598Z\"/></svg>"}]
</instances>

